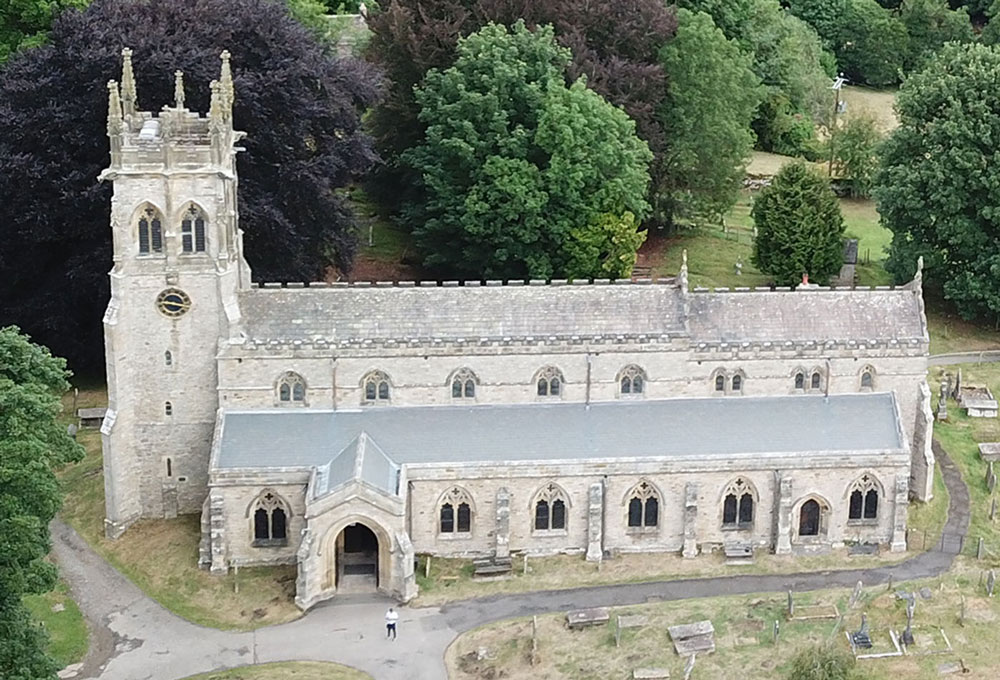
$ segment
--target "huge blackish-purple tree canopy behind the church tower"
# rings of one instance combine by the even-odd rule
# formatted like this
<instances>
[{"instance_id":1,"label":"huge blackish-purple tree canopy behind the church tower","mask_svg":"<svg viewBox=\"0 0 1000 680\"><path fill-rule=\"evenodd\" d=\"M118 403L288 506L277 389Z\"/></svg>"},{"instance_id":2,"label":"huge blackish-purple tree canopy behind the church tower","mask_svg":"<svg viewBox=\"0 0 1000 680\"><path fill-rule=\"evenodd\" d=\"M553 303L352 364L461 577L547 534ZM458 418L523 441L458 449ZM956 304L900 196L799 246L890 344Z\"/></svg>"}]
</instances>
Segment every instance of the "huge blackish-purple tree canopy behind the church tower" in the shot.
<instances>
[{"instance_id":1,"label":"huge blackish-purple tree canopy behind the church tower","mask_svg":"<svg viewBox=\"0 0 1000 680\"><path fill-rule=\"evenodd\" d=\"M0 308L78 369L103 359L109 297L111 187L107 88L134 50L139 102L208 110L208 83L228 49L234 119L249 134L238 157L240 223L258 277L320 276L348 267L354 220L334 192L375 155L360 112L376 99L372 69L335 59L269 0L98 0L56 20L50 43L0 72Z\"/></svg>"}]
</instances>

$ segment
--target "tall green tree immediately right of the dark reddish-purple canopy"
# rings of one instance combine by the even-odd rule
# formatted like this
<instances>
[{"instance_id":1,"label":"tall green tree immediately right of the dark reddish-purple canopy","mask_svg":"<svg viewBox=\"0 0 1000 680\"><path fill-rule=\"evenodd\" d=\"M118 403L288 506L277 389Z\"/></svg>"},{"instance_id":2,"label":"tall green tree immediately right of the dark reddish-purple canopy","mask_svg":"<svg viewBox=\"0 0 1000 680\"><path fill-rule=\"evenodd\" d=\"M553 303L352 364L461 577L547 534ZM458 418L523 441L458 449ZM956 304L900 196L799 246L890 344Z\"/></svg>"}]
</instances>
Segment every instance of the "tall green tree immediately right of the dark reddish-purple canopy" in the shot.
<instances>
[{"instance_id":1,"label":"tall green tree immediately right of the dark reddish-purple canopy","mask_svg":"<svg viewBox=\"0 0 1000 680\"><path fill-rule=\"evenodd\" d=\"M736 202L753 149L750 122L763 93L750 58L704 12L679 9L661 52L668 76L661 107L668 139L654 192L677 217L718 217Z\"/></svg>"}]
</instances>

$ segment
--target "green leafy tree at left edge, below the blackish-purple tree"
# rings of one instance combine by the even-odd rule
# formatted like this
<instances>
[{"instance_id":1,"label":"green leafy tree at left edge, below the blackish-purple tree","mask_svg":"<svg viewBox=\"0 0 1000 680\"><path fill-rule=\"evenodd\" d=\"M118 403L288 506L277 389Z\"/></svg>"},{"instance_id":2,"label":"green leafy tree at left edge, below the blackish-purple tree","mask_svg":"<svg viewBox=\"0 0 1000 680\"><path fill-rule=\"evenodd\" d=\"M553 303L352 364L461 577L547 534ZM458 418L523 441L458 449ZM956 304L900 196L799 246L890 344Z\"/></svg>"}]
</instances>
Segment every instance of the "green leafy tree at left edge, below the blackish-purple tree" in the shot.
<instances>
[{"instance_id":1,"label":"green leafy tree at left edge, below the blackish-purple tree","mask_svg":"<svg viewBox=\"0 0 1000 680\"><path fill-rule=\"evenodd\" d=\"M62 502L53 469L83 451L56 416L68 389L66 362L14 327L0 328L0 677L54 678L45 635L31 623L22 596L55 585L49 522Z\"/></svg>"}]
</instances>

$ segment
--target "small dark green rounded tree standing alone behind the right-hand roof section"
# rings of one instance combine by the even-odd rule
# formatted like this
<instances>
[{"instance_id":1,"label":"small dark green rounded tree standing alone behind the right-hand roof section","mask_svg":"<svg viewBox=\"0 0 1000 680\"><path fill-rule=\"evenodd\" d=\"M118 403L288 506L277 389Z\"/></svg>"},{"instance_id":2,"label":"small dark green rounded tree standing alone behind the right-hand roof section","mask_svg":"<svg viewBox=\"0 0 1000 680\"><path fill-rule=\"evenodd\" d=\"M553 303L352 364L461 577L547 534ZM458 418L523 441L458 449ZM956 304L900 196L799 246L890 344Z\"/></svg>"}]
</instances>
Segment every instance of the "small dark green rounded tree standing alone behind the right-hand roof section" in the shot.
<instances>
[{"instance_id":1,"label":"small dark green rounded tree standing alone behind the right-hand roof section","mask_svg":"<svg viewBox=\"0 0 1000 680\"><path fill-rule=\"evenodd\" d=\"M840 204L805 163L783 167L750 210L757 227L753 263L779 286L797 284L803 274L825 284L844 261Z\"/></svg>"}]
</instances>

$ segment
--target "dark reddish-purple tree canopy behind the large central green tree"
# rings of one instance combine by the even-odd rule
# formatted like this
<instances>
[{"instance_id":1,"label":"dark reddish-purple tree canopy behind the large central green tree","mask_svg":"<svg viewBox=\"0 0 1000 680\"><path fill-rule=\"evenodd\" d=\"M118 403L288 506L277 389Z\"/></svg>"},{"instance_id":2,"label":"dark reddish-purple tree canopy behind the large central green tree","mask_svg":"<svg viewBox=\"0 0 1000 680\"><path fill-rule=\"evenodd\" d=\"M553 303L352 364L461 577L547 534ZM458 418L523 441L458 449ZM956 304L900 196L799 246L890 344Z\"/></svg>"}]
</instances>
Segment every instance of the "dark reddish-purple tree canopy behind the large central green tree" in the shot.
<instances>
[{"instance_id":1,"label":"dark reddish-purple tree canopy behind the large central green tree","mask_svg":"<svg viewBox=\"0 0 1000 680\"><path fill-rule=\"evenodd\" d=\"M369 187L388 211L421 200L414 193L420 184L400 163L402 153L424 137L414 87L429 69L452 65L459 38L491 22L511 26L519 19L529 28L551 25L559 44L571 50L567 77L585 75L587 87L622 107L654 154L666 147L658 118L666 92L659 51L672 38L676 19L661 0L394 0L369 20L367 49L388 81L385 99L371 116L385 164Z\"/></svg>"}]
</instances>

